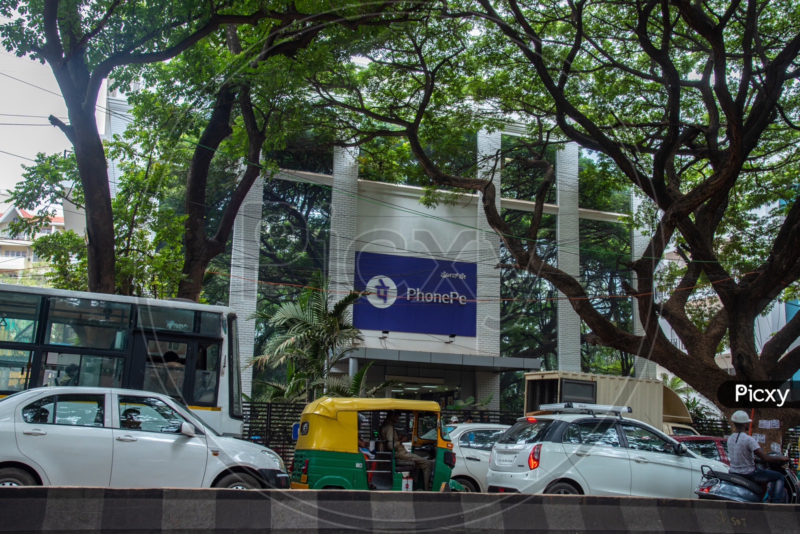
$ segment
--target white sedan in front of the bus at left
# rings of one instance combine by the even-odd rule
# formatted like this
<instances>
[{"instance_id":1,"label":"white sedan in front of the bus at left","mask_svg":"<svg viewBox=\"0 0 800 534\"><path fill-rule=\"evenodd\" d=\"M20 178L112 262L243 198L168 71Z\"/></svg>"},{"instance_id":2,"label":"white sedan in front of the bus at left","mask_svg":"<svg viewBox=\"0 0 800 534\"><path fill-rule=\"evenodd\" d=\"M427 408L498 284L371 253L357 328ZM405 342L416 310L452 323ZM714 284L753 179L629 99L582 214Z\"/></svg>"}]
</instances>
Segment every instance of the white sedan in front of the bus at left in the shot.
<instances>
[{"instance_id":1,"label":"white sedan in front of the bus at left","mask_svg":"<svg viewBox=\"0 0 800 534\"><path fill-rule=\"evenodd\" d=\"M0 486L288 488L280 456L170 397L54 387L0 399Z\"/></svg>"}]
</instances>

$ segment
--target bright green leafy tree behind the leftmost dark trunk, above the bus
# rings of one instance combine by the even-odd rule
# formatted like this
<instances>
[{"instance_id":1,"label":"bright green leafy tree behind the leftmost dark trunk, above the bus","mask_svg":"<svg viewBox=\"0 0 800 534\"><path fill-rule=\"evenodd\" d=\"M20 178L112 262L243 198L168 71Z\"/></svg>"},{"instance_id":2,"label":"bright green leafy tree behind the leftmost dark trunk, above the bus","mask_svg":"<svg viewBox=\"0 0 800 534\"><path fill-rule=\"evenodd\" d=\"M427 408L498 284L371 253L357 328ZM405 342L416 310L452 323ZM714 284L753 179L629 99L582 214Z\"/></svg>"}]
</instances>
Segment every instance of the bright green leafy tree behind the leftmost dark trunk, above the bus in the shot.
<instances>
[{"instance_id":1,"label":"bright green leafy tree behind the leftmost dark trunk, above the bus","mask_svg":"<svg viewBox=\"0 0 800 534\"><path fill-rule=\"evenodd\" d=\"M174 168L152 159L139 165L130 145L110 145L119 161L118 196L111 203L114 214L114 286L119 294L134 297L174 297L182 274L181 236L183 218L164 204ZM54 216L58 205L83 209L85 194L78 180L74 154L39 153L22 181L11 191L15 205L33 217L12 223L17 233L34 234ZM65 184L68 184L65 186ZM70 206L70 207L67 207ZM71 206L74 206L72 208ZM48 283L60 289L88 290L87 245L83 236L69 229L42 235L33 242L34 252L49 269Z\"/></svg>"}]
</instances>

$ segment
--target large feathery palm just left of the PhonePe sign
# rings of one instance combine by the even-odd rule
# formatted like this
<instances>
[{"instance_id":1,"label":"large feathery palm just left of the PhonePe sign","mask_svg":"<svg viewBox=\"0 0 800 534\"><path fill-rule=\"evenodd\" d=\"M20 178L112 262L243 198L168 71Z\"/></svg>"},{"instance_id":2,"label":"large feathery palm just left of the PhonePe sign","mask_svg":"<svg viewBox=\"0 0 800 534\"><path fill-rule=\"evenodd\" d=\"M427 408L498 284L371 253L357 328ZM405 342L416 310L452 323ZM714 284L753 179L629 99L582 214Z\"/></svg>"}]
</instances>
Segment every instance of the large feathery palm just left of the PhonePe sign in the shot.
<instances>
[{"instance_id":1,"label":"large feathery palm just left of the PhonePe sign","mask_svg":"<svg viewBox=\"0 0 800 534\"><path fill-rule=\"evenodd\" d=\"M363 293L348 293L334 302L328 282L321 273L312 277L310 287L303 289L297 301L284 302L274 314L255 312L253 318L264 319L273 328L261 356L253 357L256 369L277 368L290 364L295 380L306 380L310 400L321 393L322 383L330 369L362 341L361 330L353 326L350 305ZM290 382L287 374L287 385Z\"/></svg>"}]
</instances>

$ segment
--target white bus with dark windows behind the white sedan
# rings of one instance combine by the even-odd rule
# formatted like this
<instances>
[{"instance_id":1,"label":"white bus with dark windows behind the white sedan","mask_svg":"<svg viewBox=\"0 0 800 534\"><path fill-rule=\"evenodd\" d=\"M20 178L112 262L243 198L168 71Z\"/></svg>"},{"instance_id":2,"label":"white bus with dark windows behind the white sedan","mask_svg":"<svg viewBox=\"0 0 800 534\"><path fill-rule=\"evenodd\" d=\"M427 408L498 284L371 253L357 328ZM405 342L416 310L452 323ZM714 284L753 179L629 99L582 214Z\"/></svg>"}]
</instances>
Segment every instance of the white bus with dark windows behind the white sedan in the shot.
<instances>
[{"instance_id":1,"label":"white bus with dark windows behind the white sedan","mask_svg":"<svg viewBox=\"0 0 800 534\"><path fill-rule=\"evenodd\" d=\"M234 310L0 283L0 397L52 385L143 389L242 436Z\"/></svg>"}]
</instances>

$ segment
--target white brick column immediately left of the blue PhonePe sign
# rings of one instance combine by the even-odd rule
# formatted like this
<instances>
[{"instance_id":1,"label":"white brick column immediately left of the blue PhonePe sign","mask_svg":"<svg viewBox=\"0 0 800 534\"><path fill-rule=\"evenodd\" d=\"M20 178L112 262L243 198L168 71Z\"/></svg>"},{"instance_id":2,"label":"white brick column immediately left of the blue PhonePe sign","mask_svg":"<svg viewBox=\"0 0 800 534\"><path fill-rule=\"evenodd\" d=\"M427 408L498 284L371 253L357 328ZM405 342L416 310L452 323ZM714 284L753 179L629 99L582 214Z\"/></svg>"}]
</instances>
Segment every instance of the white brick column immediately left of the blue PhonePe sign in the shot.
<instances>
[{"instance_id":1,"label":"white brick column immediately left of the blue PhonePe sign","mask_svg":"<svg viewBox=\"0 0 800 534\"><path fill-rule=\"evenodd\" d=\"M353 289L358 215L357 154L358 148L334 148L334 190L330 198L328 267L330 289L333 291Z\"/></svg>"}]
</instances>

